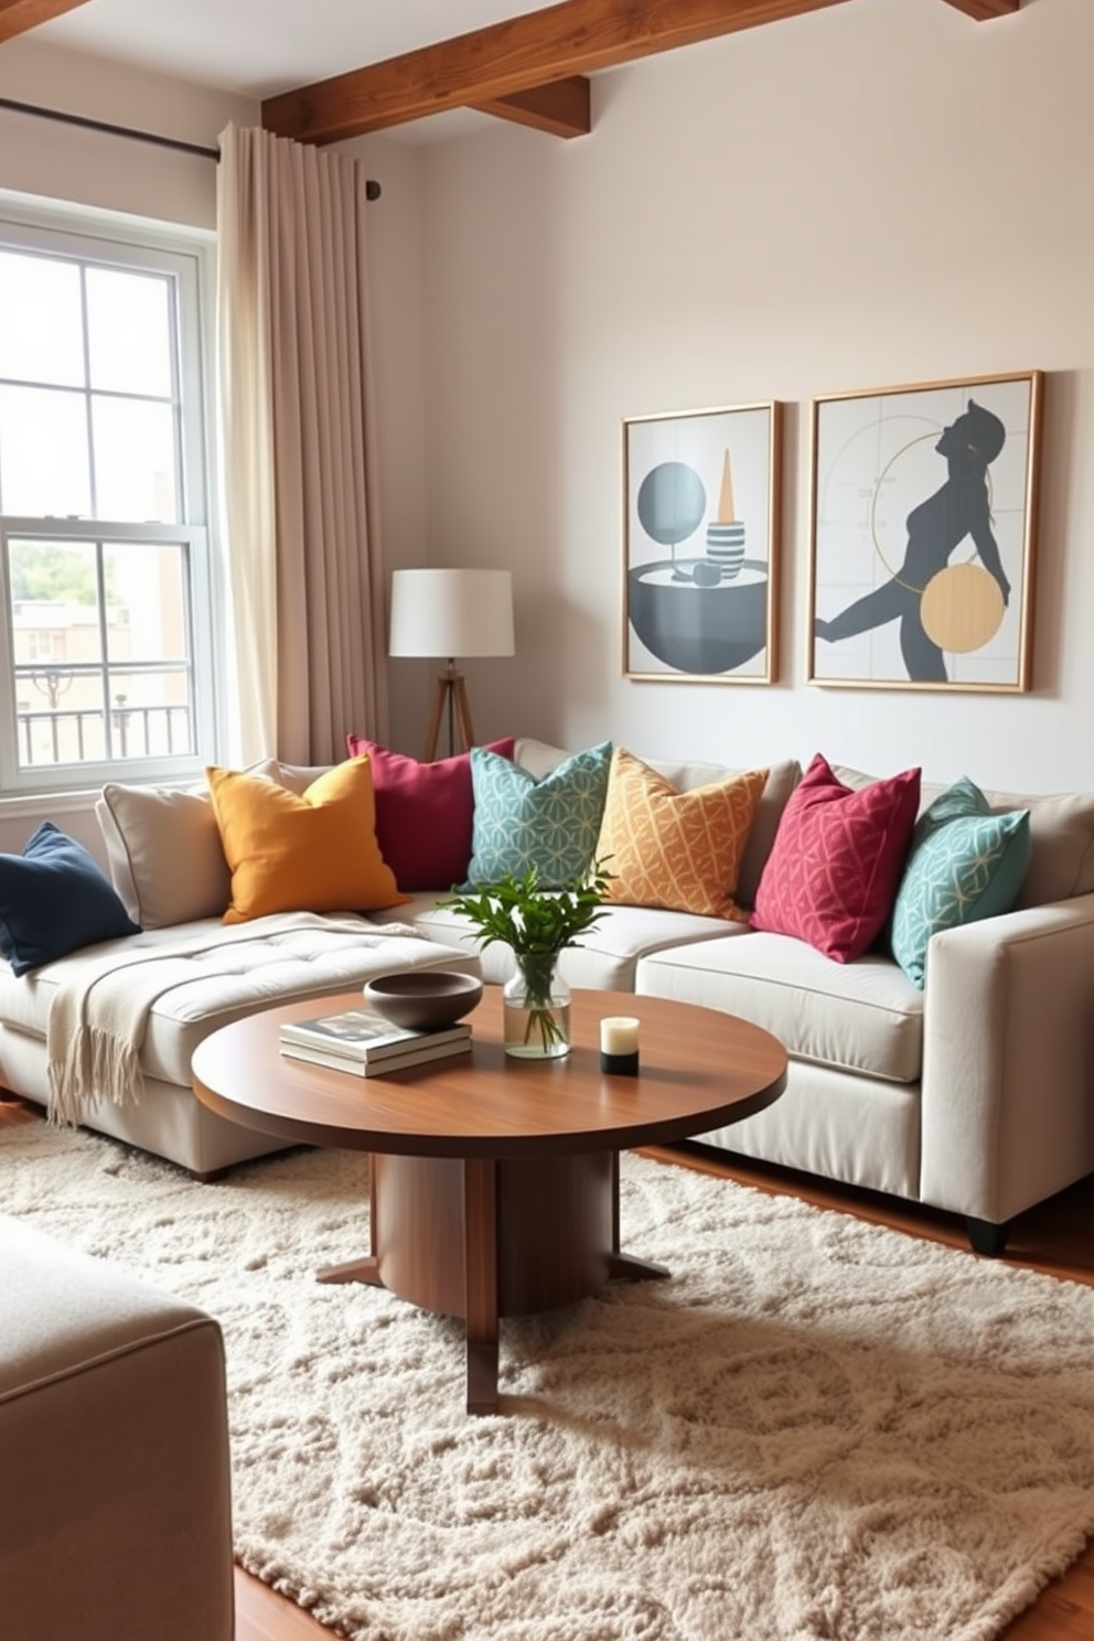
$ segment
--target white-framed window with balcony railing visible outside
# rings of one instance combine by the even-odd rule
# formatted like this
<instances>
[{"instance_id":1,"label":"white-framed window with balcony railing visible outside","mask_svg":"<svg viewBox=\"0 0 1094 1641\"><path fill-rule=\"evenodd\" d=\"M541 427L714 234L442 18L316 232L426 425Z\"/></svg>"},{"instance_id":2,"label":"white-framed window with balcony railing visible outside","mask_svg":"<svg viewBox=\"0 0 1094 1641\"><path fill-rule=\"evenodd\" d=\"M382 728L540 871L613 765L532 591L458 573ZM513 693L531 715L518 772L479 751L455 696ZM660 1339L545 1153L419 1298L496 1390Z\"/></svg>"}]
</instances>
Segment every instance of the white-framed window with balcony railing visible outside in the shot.
<instances>
[{"instance_id":1,"label":"white-framed window with balcony railing visible outside","mask_svg":"<svg viewBox=\"0 0 1094 1641\"><path fill-rule=\"evenodd\" d=\"M200 241L0 208L0 788L215 761Z\"/></svg>"}]
</instances>

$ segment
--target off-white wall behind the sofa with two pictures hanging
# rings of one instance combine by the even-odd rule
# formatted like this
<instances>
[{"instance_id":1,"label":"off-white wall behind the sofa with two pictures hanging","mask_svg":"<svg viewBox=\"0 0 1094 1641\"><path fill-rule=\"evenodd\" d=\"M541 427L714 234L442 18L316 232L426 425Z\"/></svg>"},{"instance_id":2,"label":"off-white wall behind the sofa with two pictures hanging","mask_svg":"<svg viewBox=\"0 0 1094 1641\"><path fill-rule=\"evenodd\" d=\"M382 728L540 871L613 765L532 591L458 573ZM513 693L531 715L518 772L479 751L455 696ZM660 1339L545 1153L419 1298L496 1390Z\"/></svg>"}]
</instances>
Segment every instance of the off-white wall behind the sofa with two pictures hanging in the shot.
<instances>
[{"instance_id":1,"label":"off-white wall behind the sofa with two pictures hanging","mask_svg":"<svg viewBox=\"0 0 1094 1641\"><path fill-rule=\"evenodd\" d=\"M1091 0L979 25L856 0L594 94L587 138L417 149L418 561L508 565L517 587L517 658L467 663L477 734L1094 786ZM810 397L1027 369L1046 373L1033 691L807 686ZM620 420L758 399L787 405L781 681L627 681ZM395 742L422 727L397 697Z\"/></svg>"}]
</instances>

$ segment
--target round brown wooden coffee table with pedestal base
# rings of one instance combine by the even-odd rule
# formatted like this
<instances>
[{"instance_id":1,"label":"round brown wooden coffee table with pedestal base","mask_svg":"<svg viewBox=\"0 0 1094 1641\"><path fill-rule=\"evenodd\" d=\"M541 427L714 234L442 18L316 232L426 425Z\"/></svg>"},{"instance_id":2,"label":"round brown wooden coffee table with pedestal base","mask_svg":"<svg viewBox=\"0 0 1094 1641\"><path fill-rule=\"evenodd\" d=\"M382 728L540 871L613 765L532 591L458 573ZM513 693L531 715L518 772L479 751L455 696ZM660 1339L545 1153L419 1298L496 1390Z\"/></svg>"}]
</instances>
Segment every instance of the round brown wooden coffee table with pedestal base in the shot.
<instances>
[{"instance_id":1,"label":"round brown wooden coffee table with pedestal base","mask_svg":"<svg viewBox=\"0 0 1094 1641\"><path fill-rule=\"evenodd\" d=\"M732 1014L576 991L564 1060L502 1047L500 986L471 1016L471 1054L385 1076L279 1052L279 1026L361 993L267 1009L212 1032L194 1090L248 1127L372 1154L371 1254L320 1282L374 1282L467 1324L467 1411L497 1411L500 1316L572 1305L613 1278L668 1277L620 1252L618 1154L702 1134L773 1104L786 1049ZM600 1019L640 1019L638 1076L600 1072Z\"/></svg>"}]
</instances>

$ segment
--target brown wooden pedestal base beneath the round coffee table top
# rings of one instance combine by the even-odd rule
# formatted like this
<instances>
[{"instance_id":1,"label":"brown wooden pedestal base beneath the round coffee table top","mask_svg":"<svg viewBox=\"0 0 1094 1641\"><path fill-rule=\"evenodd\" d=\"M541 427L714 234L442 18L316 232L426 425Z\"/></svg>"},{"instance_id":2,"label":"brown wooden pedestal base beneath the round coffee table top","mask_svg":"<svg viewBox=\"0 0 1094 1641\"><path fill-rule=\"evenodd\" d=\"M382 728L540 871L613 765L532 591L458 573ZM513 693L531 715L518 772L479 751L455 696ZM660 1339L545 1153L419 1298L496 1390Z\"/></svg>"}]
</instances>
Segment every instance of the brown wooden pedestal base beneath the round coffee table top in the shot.
<instances>
[{"instance_id":1,"label":"brown wooden pedestal base beneath the round coffee table top","mask_svg":"<svg viewBox=\"0 0 1094 1641\"><path fill-rule=\"evenodd\" d=\"M618 1154L372 1157L372 1254L318 1272L467 1324L467 1411L497 1413L499 1318L668 1277L618 1249Z\"/></svg>"}]
</instances>

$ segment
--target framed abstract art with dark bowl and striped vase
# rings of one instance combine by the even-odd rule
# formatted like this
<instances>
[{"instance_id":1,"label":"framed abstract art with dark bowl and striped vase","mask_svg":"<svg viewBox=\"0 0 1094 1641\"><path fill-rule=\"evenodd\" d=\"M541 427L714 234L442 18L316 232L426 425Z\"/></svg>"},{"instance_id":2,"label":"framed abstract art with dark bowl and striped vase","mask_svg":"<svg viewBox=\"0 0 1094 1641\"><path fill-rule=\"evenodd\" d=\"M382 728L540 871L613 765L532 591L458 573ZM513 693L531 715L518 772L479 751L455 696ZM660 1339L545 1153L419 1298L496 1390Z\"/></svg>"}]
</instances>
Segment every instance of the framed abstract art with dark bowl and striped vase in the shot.
<instances>
[{"instance_id":1,"label":"framed abstract art with dark bowl and striped vase","mask_svg":"<svg viewBox=\"0 0 1094 1641\"><path fill-rule=\"evenodd\" d=\"M661 683L776 676L774 402L623 422L623 673Z\"/></svg>"}]
</instances>

